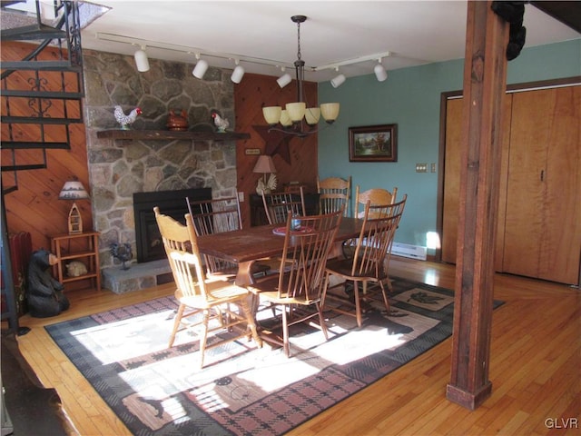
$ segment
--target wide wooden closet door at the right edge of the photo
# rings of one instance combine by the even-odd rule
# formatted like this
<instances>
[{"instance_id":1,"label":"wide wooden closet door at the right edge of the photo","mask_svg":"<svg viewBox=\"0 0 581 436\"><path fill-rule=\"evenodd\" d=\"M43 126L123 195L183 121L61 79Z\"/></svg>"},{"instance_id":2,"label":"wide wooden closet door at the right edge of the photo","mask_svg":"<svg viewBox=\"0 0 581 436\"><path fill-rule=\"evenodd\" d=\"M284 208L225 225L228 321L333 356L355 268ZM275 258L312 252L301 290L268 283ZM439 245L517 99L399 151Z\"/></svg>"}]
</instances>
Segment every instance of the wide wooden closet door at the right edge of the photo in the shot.
<instances>
[{"instance_id":1,"label":"wide wooden closet door at the right edge of the photo","mask_svg":"<svg viewBox=\"0 0 581 436\"><path fill-rule=\"evenodd\" d=\"M577 283L581 86L513 94L503 272Z\"/></svg>"}]
</instances>

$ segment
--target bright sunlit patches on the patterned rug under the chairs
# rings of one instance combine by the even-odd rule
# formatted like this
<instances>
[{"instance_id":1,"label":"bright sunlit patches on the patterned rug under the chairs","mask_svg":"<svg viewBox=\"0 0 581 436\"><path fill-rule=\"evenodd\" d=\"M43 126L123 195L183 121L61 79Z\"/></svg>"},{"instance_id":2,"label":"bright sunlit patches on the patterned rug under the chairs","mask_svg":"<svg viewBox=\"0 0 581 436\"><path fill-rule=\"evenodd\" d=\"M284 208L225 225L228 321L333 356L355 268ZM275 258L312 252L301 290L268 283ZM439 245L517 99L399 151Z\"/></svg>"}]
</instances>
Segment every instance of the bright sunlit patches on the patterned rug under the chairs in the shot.
<instances>
[{"instance_id":1,"label":"bright sunlit patches on the patterned rug under the chairs","mask_svg":"<svg viewBox=\"0 0 581 436\"><path fill-rule=\"evenodd\" d=\"M76 330L71 335L103 365L119 362L124 367L119 372L120 381L147 399L150 408L158 404L160 410L155 415L161 419L168 401L172 403L172 395L178 392L187 392L207 412L240 411L331 365L347 365L378 352L395 350L438 324L438 320L405 310L381 319L385 325L370 324L365 329L351 329L347 334L346 326L352 325L352 319L336 316L329 323L328 342L318 329L301 329L292 335L291 358L268 343L258 349L254 342L229 342L206 351L206 362L220 364L208 364L203 369L199 367L197 345L195 351L173 357L168 351L171 310ZM173 348L192 339L195 338L191 334L180 332ZM145 364L144 359L148 359L145 356L150 354L162 360L155 362L154 358ZM195 389L188 389L192 386ZM130 401L126 406L132 406L130 410L136 412L136 404ZM169 415L172 420L183 413L176 404L172 404L172 410ZM147 425L155 426L153 422Z\"/></svg>"}]
</instances>

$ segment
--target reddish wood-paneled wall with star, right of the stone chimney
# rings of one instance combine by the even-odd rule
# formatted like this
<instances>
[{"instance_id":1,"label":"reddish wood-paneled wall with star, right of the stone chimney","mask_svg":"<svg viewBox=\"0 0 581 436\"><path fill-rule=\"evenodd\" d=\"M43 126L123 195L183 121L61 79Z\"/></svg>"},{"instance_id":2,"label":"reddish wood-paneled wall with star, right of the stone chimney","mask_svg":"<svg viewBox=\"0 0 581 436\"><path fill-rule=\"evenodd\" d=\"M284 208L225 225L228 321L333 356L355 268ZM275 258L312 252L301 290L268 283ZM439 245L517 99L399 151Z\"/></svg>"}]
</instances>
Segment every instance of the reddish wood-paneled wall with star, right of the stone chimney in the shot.
<instances>
[{"instance_id":1,"label":"reddish wood-paneled wall with star, right of the stone chimney","mask_svg":"<svg viewBox=\"0 0 581 436\"><path fill-rule=\"evenodd\" d=\"M305 100L308 105L318 104L317 84L306 83L304 87ZM250 225L250 207L248 195L256 193L256 183L261 174L252 173L254 164L258 160L256 154L246 154L247 149L260 149L265 154L267 143L255 130L254 126L266 126L262 116L262 106L281 105L297 101L296 82L280 88L276 83L276 77L260 74L245 74L241 84L234 87L234 108L236 111L236 131L247 132L251 138L238 141L236 150L236 167L238 170L238 192L244 193L245 201L241 203L242 223ZM287 136L288 137L288 136ZM280 134L267 135L269 144L284 143ZM308 185L308 190L315 192L317 183L317 134L310 134L305 138L291 137L288 141L290 160L288 163L281 154L273 154L272 161L277 170L278 187L282 189L285 184L299 182ZM286 146L281 144L282 147ZM268 148L270 149L272 145Z\"/></svg>"}]
</instances>

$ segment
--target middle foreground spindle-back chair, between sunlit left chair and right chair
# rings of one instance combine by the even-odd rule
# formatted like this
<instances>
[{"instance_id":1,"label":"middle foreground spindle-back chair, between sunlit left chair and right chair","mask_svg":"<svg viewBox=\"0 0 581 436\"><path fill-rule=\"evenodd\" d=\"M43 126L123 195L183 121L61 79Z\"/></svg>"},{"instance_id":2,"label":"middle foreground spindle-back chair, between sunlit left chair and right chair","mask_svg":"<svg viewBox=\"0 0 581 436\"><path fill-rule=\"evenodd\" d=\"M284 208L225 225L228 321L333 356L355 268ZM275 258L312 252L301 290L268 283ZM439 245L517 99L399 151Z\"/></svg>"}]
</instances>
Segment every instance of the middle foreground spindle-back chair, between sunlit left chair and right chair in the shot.
<instances>
[{"instance_id":1,"label":"middle foreground spindle-back chair, between sunlit left chair and right chair","mask_svg":"<svg viewBox=\"0 0 581 436\"><path fill-rule=\"evenodd\" d=\"M289 327L318 318L320 330L328 339L320 297L325 284L325 267L343 211L300 217L300 230L291 231L292 215L287 215L284 248L279 273L249 285L261 302L281 309L282 341L287 356L291 356ZM289 265L292 265L289 267ZM307 307L313 310L305 310ZM265 338L265 340L267 340Z\"/></svg>"}]
</instances>

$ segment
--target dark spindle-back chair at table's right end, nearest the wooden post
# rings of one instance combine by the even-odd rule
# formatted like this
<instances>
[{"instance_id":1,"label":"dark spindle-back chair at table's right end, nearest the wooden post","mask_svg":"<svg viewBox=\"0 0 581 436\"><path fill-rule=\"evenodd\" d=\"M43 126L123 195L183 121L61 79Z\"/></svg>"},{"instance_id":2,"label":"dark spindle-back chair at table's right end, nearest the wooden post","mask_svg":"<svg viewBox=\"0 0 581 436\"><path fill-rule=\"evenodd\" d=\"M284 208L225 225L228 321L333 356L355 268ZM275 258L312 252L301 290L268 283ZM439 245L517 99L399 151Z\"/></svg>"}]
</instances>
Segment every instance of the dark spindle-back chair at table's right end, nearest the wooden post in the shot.
<instances>
[{"instance_id":1,"label":"dark spindle-back chair at table's right end, nearest the wooden post","mask_svg":"<svg viewBox=\"0 0 581 436\"><path fill-rule=\"evenodd\" d=\"M372 282L379 285L383 304L389 312L389 301L383 282L388 282L389 291L392 291L389 281L389 258L391 244L401 220L408 195L404 195L399 203L365 204L363 211L363 226L356 240L355 252L350 259L337 258L327 264L327 277L321 305L325 309L355 316L357 325L361 326L361 302L378 300L377 286L375 290L368 287ZM329 287L330 276L335 275L343 282ZM353 283L353 301L344 298L340 293L330 292L333 288L345 286L346 282ZM359 292L359 283L361 291ZM334 302L335 304L327 304ZM353 310L354 308L354 310Z\"/></svg>"}]
</instances>

